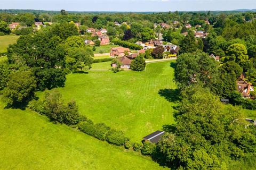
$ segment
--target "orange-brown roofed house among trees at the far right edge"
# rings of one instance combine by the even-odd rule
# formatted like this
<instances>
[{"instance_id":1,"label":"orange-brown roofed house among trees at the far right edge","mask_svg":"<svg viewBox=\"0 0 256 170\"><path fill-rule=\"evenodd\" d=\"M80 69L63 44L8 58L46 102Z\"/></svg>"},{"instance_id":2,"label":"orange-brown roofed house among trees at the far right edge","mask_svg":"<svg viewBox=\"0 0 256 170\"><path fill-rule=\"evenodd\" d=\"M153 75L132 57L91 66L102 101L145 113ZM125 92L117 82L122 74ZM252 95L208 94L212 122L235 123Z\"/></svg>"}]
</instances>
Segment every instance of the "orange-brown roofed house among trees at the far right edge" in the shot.
<instances>
[{"instance_id":1,"label":"orange-brown roofed house among trees at the far right edge","mask_svg":"<svg viewBox=\"0 0 256 170\"><path fill-rule=\"evenodd\" d=\"M242 80L236 81L237 91L243 98L250 98L250 92L254 91L253 86L250 83Z\"/></svg>"}]
</instances>

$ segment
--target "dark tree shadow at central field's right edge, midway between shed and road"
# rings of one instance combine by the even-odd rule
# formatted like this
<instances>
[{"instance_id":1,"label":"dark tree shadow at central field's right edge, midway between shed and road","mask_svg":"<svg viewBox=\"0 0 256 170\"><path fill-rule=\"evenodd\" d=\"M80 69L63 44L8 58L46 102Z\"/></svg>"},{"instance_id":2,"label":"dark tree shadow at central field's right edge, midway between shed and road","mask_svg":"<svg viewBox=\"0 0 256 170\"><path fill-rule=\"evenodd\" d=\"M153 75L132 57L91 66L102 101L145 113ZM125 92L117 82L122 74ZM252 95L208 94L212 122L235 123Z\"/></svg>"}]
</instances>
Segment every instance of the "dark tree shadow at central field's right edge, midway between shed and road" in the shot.
<instances>
[{"instance_id":1,"label":"dark tree shadow at central field's right edge, midway between shed and road","mask_svg":"<svg viewBox=\"0 0 256 170\"><path fill-rule=\"evenodd\" d=\"M178 89L160 89L158 94L169 102L180 101L180 91Z\"/></svg>"}]
</instances>

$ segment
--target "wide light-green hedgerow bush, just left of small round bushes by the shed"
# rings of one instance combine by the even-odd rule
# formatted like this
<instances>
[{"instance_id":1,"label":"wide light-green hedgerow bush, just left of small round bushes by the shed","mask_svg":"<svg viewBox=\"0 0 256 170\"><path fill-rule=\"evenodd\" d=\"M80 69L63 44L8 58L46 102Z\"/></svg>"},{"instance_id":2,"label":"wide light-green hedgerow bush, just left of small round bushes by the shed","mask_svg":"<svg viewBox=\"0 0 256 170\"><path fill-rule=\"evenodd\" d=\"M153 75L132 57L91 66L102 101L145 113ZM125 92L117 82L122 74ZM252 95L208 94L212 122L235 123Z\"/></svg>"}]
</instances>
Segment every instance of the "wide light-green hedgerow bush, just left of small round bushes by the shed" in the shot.
<instances>
[{"instance_id":1,"label":"wide light-green hedgerow bush, just left of small round bushes by the shed","mask_svg":"<svg viewBox=\"0 0 256 170\"><path fill-rule=\"evenodd\" d=\"M106 134L106 140L109 143L115 144L117 146L121 146L121 145L124 145L124 143L129 139L124 136L124 133L122 131L111 129Z\"/></svg>"}]
</instances>

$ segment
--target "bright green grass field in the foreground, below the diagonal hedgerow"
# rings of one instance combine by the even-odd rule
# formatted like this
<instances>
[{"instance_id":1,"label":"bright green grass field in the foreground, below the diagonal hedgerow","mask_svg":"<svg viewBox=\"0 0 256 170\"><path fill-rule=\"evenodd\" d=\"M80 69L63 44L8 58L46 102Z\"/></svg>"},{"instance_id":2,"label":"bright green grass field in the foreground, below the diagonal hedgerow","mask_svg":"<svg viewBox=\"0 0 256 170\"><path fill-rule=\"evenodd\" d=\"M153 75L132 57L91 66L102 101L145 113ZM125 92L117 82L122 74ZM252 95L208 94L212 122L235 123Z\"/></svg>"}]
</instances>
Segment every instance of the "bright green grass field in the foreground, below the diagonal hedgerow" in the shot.
<instances>
[{"instance_id":1,"label":"bright green grass field in the foreground, below the diagonal hedgerow","mask_svg":"<svg viewBox=\"0 0 256 170\"><path fill-rule=\"evenodd\" d=\"M163 169L30 110L0 103L0 169Z\"/></svg>"}]
</instances>

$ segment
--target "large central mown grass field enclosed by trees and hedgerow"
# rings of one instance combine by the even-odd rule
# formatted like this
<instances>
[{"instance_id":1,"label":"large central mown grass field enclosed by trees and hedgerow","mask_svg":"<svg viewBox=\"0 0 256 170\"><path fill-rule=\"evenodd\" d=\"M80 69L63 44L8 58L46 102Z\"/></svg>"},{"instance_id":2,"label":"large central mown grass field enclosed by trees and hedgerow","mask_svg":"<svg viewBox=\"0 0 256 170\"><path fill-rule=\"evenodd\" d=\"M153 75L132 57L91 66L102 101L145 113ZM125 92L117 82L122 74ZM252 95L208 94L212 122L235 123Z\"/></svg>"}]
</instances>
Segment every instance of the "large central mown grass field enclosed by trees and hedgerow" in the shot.
<instances>
[{"instance_id":1,"label":"large central mown grass field enclosed by trees and hedgerow","mask_svg":"<svg viewBox=\"0 0 256 170\"><path fill-rule=\"evenodd\" d=\"M59 90L66 100L75 99L79 112L94 123L106 123L124 131L132 141L141 141L163 125L174 123L176 87L170 63L151 63L142 72L118 73L95 71L107 70L110 62L95 63L88 74L67 75L65 87ZM38 96L42 97L42 92Z\"/></svg>"}]
</instances>

